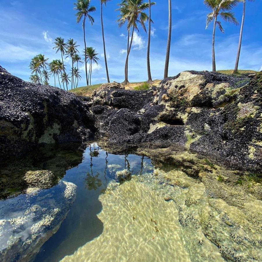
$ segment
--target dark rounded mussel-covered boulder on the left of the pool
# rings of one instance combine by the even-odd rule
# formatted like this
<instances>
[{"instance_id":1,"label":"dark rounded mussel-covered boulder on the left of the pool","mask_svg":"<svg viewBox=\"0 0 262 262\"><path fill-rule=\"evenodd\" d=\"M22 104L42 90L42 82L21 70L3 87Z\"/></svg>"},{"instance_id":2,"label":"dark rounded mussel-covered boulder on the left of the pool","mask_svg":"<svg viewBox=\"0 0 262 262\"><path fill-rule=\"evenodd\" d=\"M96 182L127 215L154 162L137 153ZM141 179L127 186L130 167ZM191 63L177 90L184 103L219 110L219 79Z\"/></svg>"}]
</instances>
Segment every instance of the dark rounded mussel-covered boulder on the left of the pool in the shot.
<instances>
[{"instance_id":1,"label":"dark rounded mussel-covered boulder on the left of the pool","mask_svg":"<svg viewBox=\"0 0 262 262\"><path fill-rule=\"evenodd\" d=\"M32 145L83 142L93 138L93 117L74 94L32 84L0 67L0 157Z\"/></svg>"}]
</instances>

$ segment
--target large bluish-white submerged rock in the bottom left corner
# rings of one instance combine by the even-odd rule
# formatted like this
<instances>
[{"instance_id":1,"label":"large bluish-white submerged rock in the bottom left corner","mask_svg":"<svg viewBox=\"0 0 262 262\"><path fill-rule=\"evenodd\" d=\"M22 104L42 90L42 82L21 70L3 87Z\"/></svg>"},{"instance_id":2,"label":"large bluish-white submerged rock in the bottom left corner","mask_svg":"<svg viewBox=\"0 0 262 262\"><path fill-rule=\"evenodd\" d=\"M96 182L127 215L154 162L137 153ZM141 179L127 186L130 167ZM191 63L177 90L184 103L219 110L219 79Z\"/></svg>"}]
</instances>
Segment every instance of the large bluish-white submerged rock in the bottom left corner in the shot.
<instances>
[{"instance_id":1,"label":"large bluish-white submerged rock in the bottom left corner","mask_svg":"<svg viewBox=\"0 0 262 262\"><path fill-rule=\"evenodd\" d=\"M76 185L59 182L37 194L0 202L0 256L3 261L31 261L60 227L75 200Z\"/></svg>"}]
</instances>

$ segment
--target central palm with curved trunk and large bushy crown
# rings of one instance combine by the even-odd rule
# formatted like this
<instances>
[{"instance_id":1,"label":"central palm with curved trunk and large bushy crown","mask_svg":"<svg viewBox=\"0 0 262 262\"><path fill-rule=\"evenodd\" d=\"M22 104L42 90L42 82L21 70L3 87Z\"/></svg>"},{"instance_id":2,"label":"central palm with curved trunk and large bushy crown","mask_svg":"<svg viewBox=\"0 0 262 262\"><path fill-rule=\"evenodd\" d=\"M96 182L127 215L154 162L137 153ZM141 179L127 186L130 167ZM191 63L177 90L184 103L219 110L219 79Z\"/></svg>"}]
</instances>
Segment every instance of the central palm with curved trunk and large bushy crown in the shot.
<instances>
[{"instance_id":1,"label":"central palm with curved trunk and large bushy crown","mask_svg":"<svg viewBox=\"0 0 262 262\"><path fill-rule=\"evenodd\" d=\"M152 2L151 5L155 5L155 2ZM132 34L131 34L131 40L130 40L130 45L127 50L127 57L125 61L125 68L126 68L126 74L125 74L125 84L128 83L128 74L127 74L127 65L128 65L128 57L131 51L131 46L133 42L133 36L134 36L134 29L136 29L138 32L138 26L137 24L139 23L142 27L142 29L145 30L146 32L146 26L145 22L146 20L149 20L148 15L144 13L143 11L148 9L149 4L144 3L144 0L123 0L121 4L119 4L120 8L117 10L120 11L120 17L118 19L118 25L122 26L126 21L127 23L127 28L131 29L132 28Z\"/></svg>"}]
</instances>

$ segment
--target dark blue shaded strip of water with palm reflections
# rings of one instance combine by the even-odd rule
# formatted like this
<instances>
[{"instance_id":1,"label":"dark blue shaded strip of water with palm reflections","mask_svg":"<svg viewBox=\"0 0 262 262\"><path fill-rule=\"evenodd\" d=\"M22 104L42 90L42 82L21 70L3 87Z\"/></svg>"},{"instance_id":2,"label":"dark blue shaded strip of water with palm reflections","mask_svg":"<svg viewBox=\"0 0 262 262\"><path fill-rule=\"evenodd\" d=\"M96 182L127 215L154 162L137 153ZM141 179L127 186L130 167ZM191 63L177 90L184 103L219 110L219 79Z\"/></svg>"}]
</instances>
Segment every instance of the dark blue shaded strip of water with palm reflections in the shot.
<instances>
[{"instance_id":1,"label":"dark blue shaded strip of water with palm reflections","mask_svg":"<svg viewBox=\"0 0 262 262\"><path fill-rule=\"evenodd\" d=\"M60 261L102 234L103 223L97 216L102 211L100 194L105 192L110 181L115 180L116 171L142 174L144 159L151 165L149 158L109 154L96 144L86 148L83 162L68 170L63 178L77 185L75 202L59 230L42 246L35 261Z\"/></svg>"}]
</instances>

